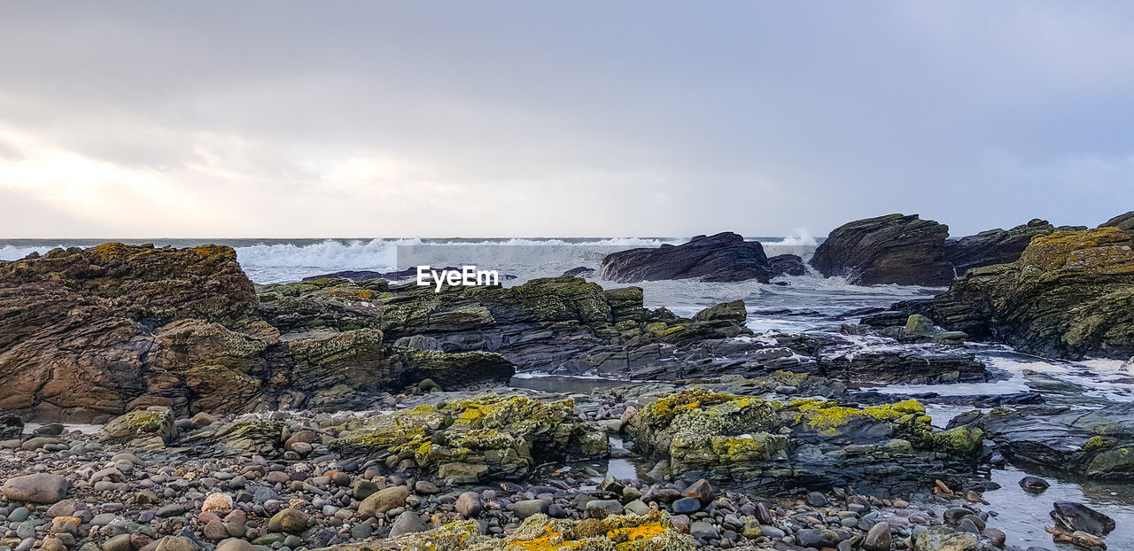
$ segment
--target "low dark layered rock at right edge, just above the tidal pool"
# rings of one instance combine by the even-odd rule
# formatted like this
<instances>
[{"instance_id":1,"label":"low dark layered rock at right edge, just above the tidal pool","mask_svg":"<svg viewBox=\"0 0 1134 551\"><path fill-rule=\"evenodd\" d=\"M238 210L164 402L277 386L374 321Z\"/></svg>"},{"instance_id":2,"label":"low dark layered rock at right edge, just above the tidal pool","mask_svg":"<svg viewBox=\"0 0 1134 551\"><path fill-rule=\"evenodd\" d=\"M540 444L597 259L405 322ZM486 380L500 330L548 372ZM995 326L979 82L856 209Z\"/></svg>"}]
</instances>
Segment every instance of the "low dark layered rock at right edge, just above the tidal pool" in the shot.
<instances>
[{"instance_id":1,"label":"low dark layered rock at right edge, just above the tidal pool","mask_svg":"<svg viewBox=\"0 0 1134 551\"><path fill-rule=\"evenodd\" d=\"M957 416L950 427L984 431L1010 461L1103 480L1134 480L1134 404L1095 410L997 408Z\"/></svg>"}]
</instances>

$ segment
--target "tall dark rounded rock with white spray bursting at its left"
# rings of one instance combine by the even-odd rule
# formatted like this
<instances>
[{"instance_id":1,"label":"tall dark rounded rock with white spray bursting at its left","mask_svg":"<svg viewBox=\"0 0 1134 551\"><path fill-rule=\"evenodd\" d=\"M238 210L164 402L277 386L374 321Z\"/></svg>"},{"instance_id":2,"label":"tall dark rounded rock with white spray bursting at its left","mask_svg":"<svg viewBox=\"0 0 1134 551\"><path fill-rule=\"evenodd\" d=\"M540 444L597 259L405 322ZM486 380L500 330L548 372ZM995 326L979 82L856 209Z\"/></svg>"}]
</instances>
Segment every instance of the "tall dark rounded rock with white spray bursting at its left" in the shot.
<instances>
[{"instance_id":1,"label":"tall dark rounded rock with white spray bursting at its left","mask_svg":"<svg viewBox=\"0 0 1134 551\"><path fill-rule=\"evenodd\" d=\"M824 277L861 285L946 286L954 277L945 251L948 235L948 226L917 214L858 220L832 230L811 265Z\"/></svg>"}]
</instances>

